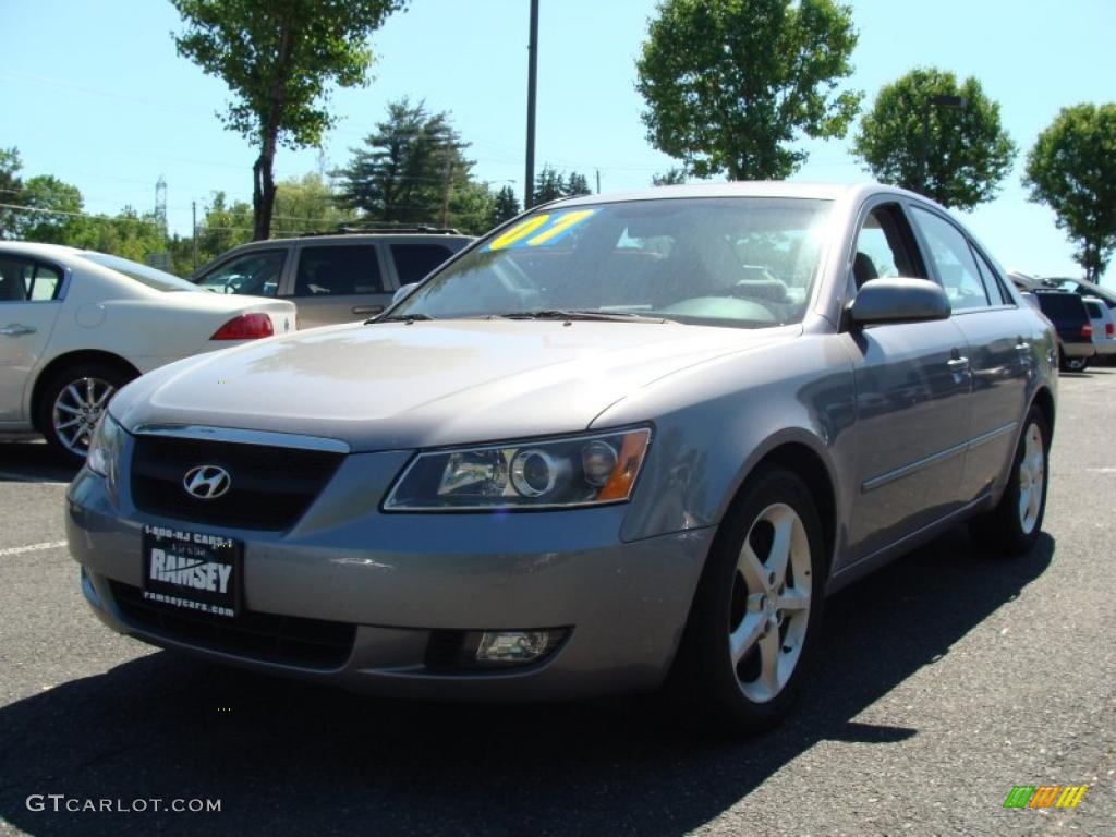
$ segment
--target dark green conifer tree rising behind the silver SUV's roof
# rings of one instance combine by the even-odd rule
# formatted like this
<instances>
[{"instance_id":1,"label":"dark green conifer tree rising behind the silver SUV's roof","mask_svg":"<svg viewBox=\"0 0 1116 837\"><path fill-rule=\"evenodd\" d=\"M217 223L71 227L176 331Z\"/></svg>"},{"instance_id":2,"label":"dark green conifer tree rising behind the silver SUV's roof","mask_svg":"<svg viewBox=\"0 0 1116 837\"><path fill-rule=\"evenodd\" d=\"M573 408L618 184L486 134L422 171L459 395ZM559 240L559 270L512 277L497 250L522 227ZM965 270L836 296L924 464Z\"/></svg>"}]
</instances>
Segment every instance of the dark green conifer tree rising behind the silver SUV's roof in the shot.
<instances>
[{"instance_id":1,"label":"dark green conifer tree rising behind the silver SUV's roof","mask_svg":"<svg viewBox=\"0 0 1116 837\"><path fill-rule=\"evenodd\" d=\"M471 182L468 147L448 113L431 114L406 98L393 102L387 119L376 124L364 147L350 148L348 166L334 173L338 201L375 223L441 223L443 215L449 222L454 193Z\"/></svg>"}]
</instances>

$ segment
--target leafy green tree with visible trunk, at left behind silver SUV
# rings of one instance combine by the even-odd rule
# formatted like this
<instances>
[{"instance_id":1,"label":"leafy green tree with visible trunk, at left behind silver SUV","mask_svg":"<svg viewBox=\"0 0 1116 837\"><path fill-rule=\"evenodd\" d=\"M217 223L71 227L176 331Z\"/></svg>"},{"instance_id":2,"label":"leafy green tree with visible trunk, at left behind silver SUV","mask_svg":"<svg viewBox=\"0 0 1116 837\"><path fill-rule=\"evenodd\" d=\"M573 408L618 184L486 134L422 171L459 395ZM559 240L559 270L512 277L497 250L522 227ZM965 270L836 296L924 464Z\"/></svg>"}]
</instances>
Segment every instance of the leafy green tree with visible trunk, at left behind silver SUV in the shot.
<instances>
[{"instance_id":1,"label":"leafy green tree with visible trunk, at left behind silver SUV","mask_svg":"<svg viewBox=\"0 0 1116 837\"><path fill-rule=\"evenodd\" d=\"M271 232L275 155L320 145L336 122L329 85L367 81L368 37L405 0L171 0L185 23L179 55L221 78L235 100L225 127L259 148L252 166L253 238Z\"/></svg>"}]
</instances>

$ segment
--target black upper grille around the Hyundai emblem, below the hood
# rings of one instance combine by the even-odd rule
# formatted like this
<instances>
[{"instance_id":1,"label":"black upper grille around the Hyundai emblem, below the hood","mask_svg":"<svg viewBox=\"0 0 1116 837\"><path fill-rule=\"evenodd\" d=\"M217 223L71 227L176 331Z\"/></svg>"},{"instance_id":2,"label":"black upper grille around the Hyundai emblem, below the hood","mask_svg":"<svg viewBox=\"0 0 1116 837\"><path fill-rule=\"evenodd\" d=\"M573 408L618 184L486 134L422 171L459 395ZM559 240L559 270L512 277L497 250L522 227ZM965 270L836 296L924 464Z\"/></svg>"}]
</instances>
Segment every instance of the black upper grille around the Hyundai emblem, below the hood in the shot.
<instances>
[{"instance_id":1,"label":"black upper grille around the Hyundai emblem, below the hood","mask_svg":"<svg viewBox=\"0 0 1116 837\"><path fill-rule=\"evenodd\" d=\"M239 529L291 528L317 498L344 454L234 442L140 435L132 454L132 500L152 514ZM229 472L229 491L213 500L182 481L198 465Z\"/></svg>"}]
</instances>

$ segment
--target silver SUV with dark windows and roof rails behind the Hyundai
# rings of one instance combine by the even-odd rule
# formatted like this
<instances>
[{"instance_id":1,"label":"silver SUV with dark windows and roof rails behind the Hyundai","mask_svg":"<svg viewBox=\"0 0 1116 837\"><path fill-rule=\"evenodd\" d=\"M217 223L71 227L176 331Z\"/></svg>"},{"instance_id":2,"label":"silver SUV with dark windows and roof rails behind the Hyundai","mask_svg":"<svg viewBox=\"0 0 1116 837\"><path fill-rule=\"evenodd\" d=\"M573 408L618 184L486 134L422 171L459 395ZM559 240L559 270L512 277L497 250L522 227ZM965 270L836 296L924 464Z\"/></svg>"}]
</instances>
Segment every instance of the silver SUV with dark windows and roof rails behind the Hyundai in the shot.
<instances>
[{"instance_id":1,"label":"silver SUV with dark windows and roof rails behind the Hyundai","mask_svg":"<svg viewBox=\"0 0 1116 837\"><path fill-rule=\"evenodd\" d=\"M429 227L253 241L222 253L190 281L217 294L289 299L300 328L331 326L379 314L401 286L421 281L470 241Z\"/></svg>"}]
</instances>

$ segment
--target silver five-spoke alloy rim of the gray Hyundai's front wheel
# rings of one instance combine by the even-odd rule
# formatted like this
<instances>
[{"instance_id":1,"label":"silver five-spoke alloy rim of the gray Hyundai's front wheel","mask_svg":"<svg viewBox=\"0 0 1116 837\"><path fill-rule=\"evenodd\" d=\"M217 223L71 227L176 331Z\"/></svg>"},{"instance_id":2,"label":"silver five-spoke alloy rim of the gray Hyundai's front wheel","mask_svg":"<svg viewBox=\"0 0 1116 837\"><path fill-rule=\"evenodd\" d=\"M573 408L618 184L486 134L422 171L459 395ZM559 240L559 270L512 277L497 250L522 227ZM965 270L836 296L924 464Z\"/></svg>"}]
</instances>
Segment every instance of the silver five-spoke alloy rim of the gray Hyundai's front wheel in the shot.
<instances>
[{"instance_id":1,"label":"silver five-spoke alloy rim of the gray Hyundai's front wheel","mask_svg":"<svg viewBox=\"0 0 1116 837\"><path fill-rule=\"evenodd\" d=\"M772 700L802 653L810 615L810 542L785 503L756 518L737 560L729 653L737 682L754 703Z\"/></svg>"}]
</instances>

